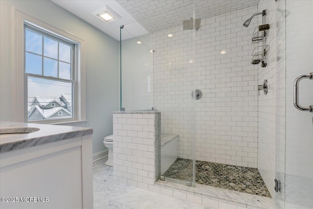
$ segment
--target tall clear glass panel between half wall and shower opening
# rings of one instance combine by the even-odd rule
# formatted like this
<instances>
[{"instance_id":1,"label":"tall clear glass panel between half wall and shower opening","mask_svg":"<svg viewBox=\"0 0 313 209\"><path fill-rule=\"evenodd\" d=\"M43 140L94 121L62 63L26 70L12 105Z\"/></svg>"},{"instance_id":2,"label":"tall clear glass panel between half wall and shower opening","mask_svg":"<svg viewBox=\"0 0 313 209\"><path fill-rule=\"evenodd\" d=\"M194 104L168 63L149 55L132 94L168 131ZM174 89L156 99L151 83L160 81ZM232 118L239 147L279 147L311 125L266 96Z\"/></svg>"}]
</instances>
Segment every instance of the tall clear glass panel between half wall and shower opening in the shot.
<instances>
[{"instance_id":1,"label":"tall clear glass panel between half wall and shower opening","mask_svg":"<svg viewBox=\"0 0 313 209\"><path fill-rule=\"evenodd\" d=\"M181 18L173 18L179 25L151 33L154 101L161 112L161 178L194 186L194 1L176 4L183 4Z\"/></svg>"}]
</instances>

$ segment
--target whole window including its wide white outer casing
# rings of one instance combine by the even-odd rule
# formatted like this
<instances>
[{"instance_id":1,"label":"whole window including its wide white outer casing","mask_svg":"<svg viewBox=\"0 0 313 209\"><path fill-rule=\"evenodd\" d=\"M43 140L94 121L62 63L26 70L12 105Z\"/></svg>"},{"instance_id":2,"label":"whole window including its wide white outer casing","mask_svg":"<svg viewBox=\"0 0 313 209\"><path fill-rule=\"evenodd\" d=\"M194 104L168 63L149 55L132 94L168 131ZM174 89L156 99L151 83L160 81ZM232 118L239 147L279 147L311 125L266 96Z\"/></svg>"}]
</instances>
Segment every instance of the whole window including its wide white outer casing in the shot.
<instances>
[{"instance_id":1,"label":"whole window including its wide white outer casing","mask_svg":"<svg viewBox=\"0 0 313 209\"><path fill-rule=\"evenodd\" d=\"M14 12L14 120L86 125L85 40L63 30L62 23L51 25L16 8Z\"/></svg>"}]
</instances>

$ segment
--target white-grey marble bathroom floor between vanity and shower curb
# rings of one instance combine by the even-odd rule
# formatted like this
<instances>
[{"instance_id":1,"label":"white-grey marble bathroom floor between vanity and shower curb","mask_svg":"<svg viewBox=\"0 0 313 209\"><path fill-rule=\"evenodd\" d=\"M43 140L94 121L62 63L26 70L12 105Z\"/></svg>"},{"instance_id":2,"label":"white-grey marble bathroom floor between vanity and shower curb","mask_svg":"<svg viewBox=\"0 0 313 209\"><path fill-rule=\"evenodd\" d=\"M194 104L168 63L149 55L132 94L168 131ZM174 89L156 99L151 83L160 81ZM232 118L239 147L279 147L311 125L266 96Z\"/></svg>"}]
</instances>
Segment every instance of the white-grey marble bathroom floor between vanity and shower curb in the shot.
<instances>
[{"instance_id":1,"label":"white-grey marble bathroom floor between vanity and shower curb","mask_svg":"<svg viewBox=\"0 0 313 209\"><path fill-rule=\"evenodd\" d=\"M93 163L94 209L211 209L200 204L124 185L113 180L107 158Z\"/></svg>"}]
</instances>

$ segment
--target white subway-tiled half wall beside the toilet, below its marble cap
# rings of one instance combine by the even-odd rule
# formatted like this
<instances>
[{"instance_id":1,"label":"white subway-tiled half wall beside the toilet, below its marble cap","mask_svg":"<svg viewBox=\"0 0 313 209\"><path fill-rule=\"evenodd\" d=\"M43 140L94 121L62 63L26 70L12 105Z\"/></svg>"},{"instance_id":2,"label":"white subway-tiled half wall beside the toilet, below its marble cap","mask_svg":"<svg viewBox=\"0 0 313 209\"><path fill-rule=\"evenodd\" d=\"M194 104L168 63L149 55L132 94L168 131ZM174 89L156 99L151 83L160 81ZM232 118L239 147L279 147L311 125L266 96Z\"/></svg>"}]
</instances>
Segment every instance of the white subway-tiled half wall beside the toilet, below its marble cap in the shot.
<instances>
[{"instance_id":1,"label":"white subway-tiled half wall beside the toilet, below its marble cap","mask_svg":"<svg viewBox=\"0 0 313 209\"><path fill-rule=\"evenodd\" d=\"M159 114L113 114L114 180L155 190Z\"/></svg>"}]
</instances>

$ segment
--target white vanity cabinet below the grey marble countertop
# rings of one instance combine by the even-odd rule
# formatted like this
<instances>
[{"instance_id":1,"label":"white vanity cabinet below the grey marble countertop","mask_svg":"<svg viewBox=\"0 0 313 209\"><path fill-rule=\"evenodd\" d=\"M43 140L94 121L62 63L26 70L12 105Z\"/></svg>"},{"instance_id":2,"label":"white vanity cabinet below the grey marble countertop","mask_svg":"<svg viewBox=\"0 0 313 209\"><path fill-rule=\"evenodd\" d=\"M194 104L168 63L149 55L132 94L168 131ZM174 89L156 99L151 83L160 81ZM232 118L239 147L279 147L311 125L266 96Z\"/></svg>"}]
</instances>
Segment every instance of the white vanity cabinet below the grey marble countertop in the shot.
<instances>
[{"instance_id":1,"label":"white vanity cabinet below the grey marble countertop","mask_svg":"<svg viewBox=\"0 0 313 209\"><path fill-rule=\"evenodd\" d=\"M92 209L91 136L0 152L0 208Z\"/></svg>"}]
</instances>

